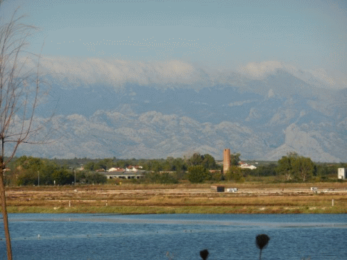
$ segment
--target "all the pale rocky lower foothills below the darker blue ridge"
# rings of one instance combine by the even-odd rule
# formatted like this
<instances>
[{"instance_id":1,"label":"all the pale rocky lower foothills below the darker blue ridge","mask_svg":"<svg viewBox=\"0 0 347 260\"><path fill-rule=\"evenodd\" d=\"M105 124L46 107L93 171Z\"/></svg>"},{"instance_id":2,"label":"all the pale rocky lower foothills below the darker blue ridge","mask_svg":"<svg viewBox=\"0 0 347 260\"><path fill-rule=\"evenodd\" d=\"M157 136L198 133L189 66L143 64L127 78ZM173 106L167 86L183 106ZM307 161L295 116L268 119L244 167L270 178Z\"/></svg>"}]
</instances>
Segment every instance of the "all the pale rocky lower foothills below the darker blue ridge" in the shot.
<instances>
[{"instance_id":1,"label":"all the pale rocky lower foothills below the darker blue ridge","mask_svg":"<svg viewBox=\"0 0 347 260\"><path fill-rule=\"evenodd\" d=\"M331 124L289 125L282 144L271 147L264 140L273 132L257 132L240 123L199 123L187 116L160 112L121 114L97 111L89 118L81 115L56 116L62 137L49 146L22 146L22 152L46 157L180 157L194 152L220 158L223 148L242 153L245 159L278 159L296 151L315 161L344 160L346 136L339 136ZM347 123L340 125L347 132ZM328 128L328 129L327 129ZM278 138L278 137L277 137ZM341 156L342 155L342 156Z\"/></svg>"}]
</instances>

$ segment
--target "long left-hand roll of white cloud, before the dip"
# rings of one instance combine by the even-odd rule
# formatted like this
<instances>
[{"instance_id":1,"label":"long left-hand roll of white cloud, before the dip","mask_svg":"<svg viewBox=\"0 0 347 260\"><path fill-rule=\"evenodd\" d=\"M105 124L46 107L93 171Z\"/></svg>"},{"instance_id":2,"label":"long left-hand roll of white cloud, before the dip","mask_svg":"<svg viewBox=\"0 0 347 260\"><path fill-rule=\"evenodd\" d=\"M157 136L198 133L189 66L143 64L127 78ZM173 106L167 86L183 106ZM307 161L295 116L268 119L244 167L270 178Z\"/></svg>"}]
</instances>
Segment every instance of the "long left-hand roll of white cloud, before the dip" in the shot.
<instances>
[{"instance_id":1,"label":"long left-hand roll of white cloud, before the dip","mask_svg":"<svg viewBox=\"0 0 347 260\"><path fill-rule=\"evenodd\" d=\"M71 83L106 83L115 87L124 83L139 85L192 84L199 79L197 71L187 62L135 62L100 58L44 57L41 66L53 78Z\"/></svg>"}]
</instances>

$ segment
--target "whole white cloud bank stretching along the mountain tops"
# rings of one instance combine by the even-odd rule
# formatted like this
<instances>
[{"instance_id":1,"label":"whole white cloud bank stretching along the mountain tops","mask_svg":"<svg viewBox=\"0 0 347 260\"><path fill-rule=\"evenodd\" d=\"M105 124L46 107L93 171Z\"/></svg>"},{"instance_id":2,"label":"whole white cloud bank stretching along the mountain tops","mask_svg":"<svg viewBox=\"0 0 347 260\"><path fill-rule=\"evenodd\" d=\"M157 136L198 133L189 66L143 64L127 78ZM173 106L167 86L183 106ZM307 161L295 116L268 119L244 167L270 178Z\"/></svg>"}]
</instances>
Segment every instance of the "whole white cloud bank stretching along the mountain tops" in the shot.
<instances>
[{"instance_id":1,"label":"whole white cloud bank stretching along the mountain tops","mask_svg":"<svg viewBox=\"0 0 347 260\"><path fill-rule=\"evenodd\" d=\"M347 87L347 76L325 69L303 70L279 61L250 62L233 70L212 69L182 60L140 62L101 58L42 57L42 71L69 87L102 84L121 87L125 83L163 87L212 87L217 84L242 86L247 78L264 78L282 69L317 87ZM28 61L28 67L33 62ZM237 72L235 72L237 71Z\"/></svg>"}]
</instances>

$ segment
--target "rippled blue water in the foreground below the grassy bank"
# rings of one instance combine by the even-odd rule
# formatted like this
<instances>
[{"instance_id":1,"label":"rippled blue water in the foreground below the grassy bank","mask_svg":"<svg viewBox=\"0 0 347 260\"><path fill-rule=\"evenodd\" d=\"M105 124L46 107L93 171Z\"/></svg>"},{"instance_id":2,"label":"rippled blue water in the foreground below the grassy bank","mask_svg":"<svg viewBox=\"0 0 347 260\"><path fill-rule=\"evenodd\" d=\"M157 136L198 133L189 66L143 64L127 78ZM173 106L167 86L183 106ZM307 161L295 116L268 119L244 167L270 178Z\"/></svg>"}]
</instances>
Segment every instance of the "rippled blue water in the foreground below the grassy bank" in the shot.
<instances>
[{"instance_id":1,"label":"rippled blue water in the foreground below the grassy bank","mask_svg":"<svg viewBox=\"0 0 347 260\"><path fill-rule=\"evenodd\" d=\"M347 215L10 214L15 260L347 259ZM3 223L0 259L6 259ZM40 234L40 238L38 235Z\"/></svg>"}]
</instances>

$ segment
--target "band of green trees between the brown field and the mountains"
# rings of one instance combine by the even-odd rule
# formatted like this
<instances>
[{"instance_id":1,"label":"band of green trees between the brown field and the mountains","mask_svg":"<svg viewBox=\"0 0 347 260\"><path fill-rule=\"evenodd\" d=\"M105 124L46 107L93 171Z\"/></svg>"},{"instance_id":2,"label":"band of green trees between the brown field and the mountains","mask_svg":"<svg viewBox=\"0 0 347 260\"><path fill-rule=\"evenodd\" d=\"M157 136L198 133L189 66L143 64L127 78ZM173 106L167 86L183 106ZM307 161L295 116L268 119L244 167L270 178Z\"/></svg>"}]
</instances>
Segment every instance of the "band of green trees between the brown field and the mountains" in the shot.
<instances>
[{"instance_id":1,"label":"band of green trees between the brown field and the mountains","mask_svg":"<svg viewBox=\"0 0 347 260\"><path fill-rule=\"evenodd\" d=\"M209 154L194 153L191 157L167 159L86 159L85 164L78 165L78 159L67 159L60 162L57 159L42 159L22 156L15 158L6 171L7 185L65 185L65 184L103 184L108 182L105 175L97 171L108 171L112 167L126 168L142 166L144 179L133 182L146 183L178 183L189 181L201 182L244 182L248 176L277 177L279 182L309 182L327 181L337 177L337 168L347 167L347 164L314 163L309 157L297 153L289 153L277 162L257 165L254 170L240 168L241 155L230 155L231 166L226 173L222 172L222 164L218 164ZM70 161L71 162L71 161ZM83 166L83 170L78 170Z\"/></svg>"}]
</instances>

